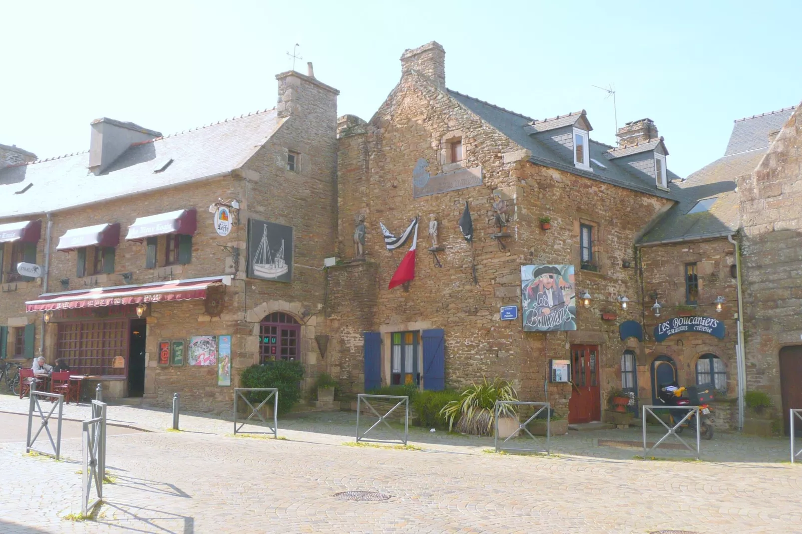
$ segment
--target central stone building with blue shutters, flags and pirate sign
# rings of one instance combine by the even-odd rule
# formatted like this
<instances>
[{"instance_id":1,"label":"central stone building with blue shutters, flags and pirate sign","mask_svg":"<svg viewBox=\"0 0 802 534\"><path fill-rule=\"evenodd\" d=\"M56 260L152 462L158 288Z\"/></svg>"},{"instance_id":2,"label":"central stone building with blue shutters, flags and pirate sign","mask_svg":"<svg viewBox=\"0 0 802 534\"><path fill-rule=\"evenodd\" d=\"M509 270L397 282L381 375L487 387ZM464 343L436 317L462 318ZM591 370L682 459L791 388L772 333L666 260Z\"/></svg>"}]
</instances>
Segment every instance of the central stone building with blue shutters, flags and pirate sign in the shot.
<instances>
[{"instance_id":1,"label":"central stone building with blue shutters, flags and pirate sign","mask_svg":"<svg viewBox=\"0 0 802 534\"><path fill-rule=\"evenodd\" d=\"M330 269L330 370L350 391L508 378L571 422L600 419L625 351L646 365L643 343L622 340L620 326L643 322L634 245L675 204L657 127L628 123L610 147L589 138L585 111L533 119L448 89L436 42L401 63L370 122L345 115L338 125L345 261ZM458 226L466 205L472 241ZM416 217L415 279L387 289L413 238L387 242ZM363 257L354 220L364 220ZM503 320L502 306L520 316Z\"/></svg>"}]
</instances>

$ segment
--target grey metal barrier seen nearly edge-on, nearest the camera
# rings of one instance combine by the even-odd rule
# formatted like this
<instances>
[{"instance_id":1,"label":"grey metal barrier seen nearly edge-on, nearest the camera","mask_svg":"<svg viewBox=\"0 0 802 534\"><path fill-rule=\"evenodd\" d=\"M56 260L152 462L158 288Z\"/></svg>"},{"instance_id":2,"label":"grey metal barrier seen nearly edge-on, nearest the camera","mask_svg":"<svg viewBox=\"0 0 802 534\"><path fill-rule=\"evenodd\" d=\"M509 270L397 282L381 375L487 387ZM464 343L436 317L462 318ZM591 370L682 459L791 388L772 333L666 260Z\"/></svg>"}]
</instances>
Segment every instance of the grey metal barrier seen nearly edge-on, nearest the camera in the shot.
<instances>
[{"instance_id":1,"label":"grey metal barrier seen nearly edge-on, nearest the camera","mask_svg":"<svg viewBox=\"0 0 802 534\"><path fill-rule=\"evenodd\" d=\"M106 478L106 403L92 401L92 419L83 422L83 471L81 483L81 515L103 500L103 479ZM92 485L97 498L91 503Z\"/></svg>"}]
</instances>

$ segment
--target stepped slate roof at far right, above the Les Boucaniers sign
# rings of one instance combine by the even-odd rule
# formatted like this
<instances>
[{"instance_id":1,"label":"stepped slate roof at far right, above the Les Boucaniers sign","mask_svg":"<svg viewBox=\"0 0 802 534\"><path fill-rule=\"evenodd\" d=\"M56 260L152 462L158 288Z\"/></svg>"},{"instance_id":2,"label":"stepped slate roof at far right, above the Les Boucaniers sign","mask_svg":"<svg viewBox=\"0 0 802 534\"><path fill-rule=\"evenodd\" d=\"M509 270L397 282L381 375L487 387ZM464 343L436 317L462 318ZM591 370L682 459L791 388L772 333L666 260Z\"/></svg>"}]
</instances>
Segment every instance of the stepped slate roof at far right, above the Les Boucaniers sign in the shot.
<instances>
[{"instance_id":1,"label":"stepped slate roof at far right, above the Les Boucaniers sign","mask_svg":"<svg viewBox=\"0 0 802 534\"><path fill-rule=\"evenodd\" d=\"M793 109L736 120L723 157L700 168L686 181L670 184L679 202L641 238L641 244L691 241L735 232L740 225L737 179L755 170L768 152L768 133L779 130ZM689 213L699 200L709 198L716 200L707 211Z\"/></svg>"}]
</instances>

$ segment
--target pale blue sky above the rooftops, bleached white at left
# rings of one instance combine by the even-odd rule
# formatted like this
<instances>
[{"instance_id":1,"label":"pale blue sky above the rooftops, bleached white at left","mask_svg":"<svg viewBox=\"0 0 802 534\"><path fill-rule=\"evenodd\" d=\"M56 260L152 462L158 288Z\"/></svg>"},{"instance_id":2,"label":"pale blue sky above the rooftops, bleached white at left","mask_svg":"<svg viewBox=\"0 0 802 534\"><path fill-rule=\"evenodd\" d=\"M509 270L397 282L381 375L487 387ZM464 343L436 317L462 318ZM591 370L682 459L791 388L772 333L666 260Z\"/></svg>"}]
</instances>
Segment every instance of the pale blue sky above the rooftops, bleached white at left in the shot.
<instances>
[{"instance_id":1,"label":"pale blue sky above the rooftops, bleached white at left","mask_svg":"<svg viewBox=\"0 0 802 534\"><path fill-rule=\"evenodd\" d=\"M681 176L723 154L732 120L802 99L802 2L7 2L0 143L88 148L89 123L164 134L273 107L294 43L370 119L405 48L446 49L448 87L535 118L588 111L599 141L650 117ZM213 155L210 155L213 156Z\"/></svg>"}]
</instances>

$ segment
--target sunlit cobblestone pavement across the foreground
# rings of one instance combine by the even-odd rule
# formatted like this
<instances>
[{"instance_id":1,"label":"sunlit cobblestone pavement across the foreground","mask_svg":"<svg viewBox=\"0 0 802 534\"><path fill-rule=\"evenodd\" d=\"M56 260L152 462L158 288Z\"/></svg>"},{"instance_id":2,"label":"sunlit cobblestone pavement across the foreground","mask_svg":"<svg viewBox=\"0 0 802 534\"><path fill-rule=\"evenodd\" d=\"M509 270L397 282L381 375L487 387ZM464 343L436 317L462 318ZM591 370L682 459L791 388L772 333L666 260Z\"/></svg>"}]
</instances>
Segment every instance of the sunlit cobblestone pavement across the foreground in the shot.
<instances>
[{"instance_id":1,"label":"sunlit cobblestone pavement across the foreground","mask_svg":"<svg viewBox=\"0 0 802 534\"><path fill-rule=\"evenodd\" d=\"M25 407L0 395L2 411ZM65 407L65 417L87 412ZM63 441L61 462L24 455L24 443L0 443L2 534L802 533L802 466L780 463L788 456L780 439L717 435L703 450L718 450L722 461L642 461L633 459L638 450L593 445L602 437L637 439L626 431L570 432L553 439L560 454L545 457L486 453L492 439L420 430L411 439L423 451L346 447L354 440L350 414L282 420L279 435L287 439L276 440L233 437L231 422L200 415L182 415L185 431L173 433L164 431L167 412L108 413L155 432L108 437L107 469L116 480L104 487L98 519L63 519L80 509L79 439ZM391 498L334 497L350 490Z\"/></svg>"}]
</instances>

